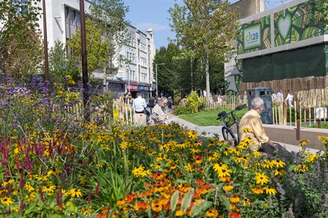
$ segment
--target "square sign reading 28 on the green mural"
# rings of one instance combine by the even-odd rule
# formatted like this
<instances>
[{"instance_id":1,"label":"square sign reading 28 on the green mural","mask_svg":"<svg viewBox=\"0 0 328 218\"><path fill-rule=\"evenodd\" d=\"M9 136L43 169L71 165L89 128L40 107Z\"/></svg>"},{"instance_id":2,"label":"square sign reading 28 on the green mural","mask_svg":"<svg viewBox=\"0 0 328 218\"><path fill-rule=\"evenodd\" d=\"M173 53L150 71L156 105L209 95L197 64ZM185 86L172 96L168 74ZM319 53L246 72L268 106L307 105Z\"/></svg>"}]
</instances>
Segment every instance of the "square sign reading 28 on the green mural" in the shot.
<instances>
[{"instance_id":1,"label":"square sign reading 28 on the green mural","mask_svg":"<svg viewBox=\"0 0 328 218\"><path fill-rule=\"evenodd\" d=\"M260 23L243 29L244 50L260 47L262 44L261 35Z\"/></svg>"}]
</instances>

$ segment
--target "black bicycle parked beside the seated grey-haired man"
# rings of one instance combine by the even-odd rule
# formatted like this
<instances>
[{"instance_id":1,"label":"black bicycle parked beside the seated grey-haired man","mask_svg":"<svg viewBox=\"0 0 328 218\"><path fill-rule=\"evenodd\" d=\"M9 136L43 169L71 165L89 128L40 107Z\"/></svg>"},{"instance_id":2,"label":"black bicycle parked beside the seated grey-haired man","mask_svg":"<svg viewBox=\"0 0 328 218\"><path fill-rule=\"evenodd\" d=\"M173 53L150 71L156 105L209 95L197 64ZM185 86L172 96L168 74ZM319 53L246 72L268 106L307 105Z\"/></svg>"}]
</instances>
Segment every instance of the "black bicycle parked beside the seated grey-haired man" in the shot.
<instances>
[{"instance_id":1,"label":"black bicycle parked beside the seated grey-haired man","mask_svg":"<svg viewBox=\"0 0 328 218\"><path fill-rule=\"evenodd\" d=\"M226 111L222 111L217 114L217 116L218 116L217 120L223 120L224 125L222 126L222 135L223 135L224 141L233 141L234 146L237 146L240 141L239 123L238 123L238 121L236 119L236 115L234 113L244 109L245 107L247 107L247 105L245 105L245 104L238 105L234 110L230 111L229 113L227 113ZM232 117L233 122L230 122L230 119L228 119L230 117L230 115ZM236 124L236 127L237 127L237 137L236 137L236 135L234 135L234 131L232 130L232 126L234 124Z\"/></svg>"}]
</instances>

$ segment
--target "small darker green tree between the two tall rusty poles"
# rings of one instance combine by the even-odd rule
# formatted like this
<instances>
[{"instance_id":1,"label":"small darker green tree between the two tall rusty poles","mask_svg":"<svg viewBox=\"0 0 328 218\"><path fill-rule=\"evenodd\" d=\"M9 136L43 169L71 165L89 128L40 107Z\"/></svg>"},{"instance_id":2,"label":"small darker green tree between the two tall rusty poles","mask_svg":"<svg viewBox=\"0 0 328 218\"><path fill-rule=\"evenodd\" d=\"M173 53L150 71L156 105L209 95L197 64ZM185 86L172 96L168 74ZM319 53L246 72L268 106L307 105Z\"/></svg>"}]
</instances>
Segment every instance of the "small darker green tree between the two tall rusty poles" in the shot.
<instances>
[{"instance_id":1,"label":"small darker green tree between the two tall rusty poles","mask_svg":"<svg viewBox=\"0 0 328 218\"><path fill-rule=\"evenodd\" d=\"M80 78L77 64L66 54L64 44L59 41L56 41L55 46L50 49L49 71L51 77L57 81L61 81L66 75L70 75L75 82Z\"/></svg>"}]
</instances>

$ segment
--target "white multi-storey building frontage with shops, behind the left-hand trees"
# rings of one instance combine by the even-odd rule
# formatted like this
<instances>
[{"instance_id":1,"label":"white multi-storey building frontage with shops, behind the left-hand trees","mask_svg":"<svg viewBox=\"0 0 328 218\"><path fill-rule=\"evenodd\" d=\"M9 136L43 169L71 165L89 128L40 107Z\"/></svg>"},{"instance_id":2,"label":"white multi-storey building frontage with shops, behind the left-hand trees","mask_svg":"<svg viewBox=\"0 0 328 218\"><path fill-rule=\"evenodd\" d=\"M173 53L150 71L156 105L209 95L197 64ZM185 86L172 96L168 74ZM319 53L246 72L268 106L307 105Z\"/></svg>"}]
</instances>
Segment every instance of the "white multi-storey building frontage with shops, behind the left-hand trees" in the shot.
<instances>
[{"instance_id":1,"label":"white multi-storey building frontage with shops, behind the left-hand trees","mask_svg":"<svg viewBox=\"0 0 328 218\"><path fill-rule=\"evenodd\" d=\"M84 2L87 13L91 3L87 0ZM42 2L40 7L42 8ZM66 44L72 38L72 35L80 26L79 8L79 0L46 1L49 48L55 45L56 40ZM39 25L43 31L42 18L40 18ZM141 91L145 97L148 97L156 87L152 68L155 55L154 34L152 29L149 29L147 33L143 33L133 26L128 27L128 33L131 34L131 44L124 46L120 54L129 59L131 64L120 67L118 62L114 60L114 65L117 66L118 70L106 78L106 86L116 96L122 96L126 91L131 91L133 95L135 92ZM94 72L93 76L101 82L104 79L102 70Z\"/></svg>"}]
</instances>

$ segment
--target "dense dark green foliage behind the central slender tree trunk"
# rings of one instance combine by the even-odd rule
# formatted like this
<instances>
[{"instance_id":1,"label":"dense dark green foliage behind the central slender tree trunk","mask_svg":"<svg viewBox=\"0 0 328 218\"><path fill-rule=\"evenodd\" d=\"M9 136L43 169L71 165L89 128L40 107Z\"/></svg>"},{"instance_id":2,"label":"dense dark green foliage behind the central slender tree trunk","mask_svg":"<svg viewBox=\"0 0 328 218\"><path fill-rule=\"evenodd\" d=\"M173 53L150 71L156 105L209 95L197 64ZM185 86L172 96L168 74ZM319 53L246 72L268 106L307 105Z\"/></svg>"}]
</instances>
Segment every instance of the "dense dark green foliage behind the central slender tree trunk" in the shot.
<instances>
[{"instance_id":1,"label":"dense dark green foliage behind the central slender tree trunk","mask_svg":"<svg viewBox=\"0 0 328 218\"><path fill-rule=\"evenodd\" d=\"M172 93L174 90L191 91L191 72L193 75L193 88L204 90L206 81L204 77L204 60L193 57L188 51L179 49L174 43L162 46L156 51L153 67L158 73L159 90ZM216 57L209 59L210 86L224 86L224 64ZM176 100L176 99L174 99Z\"/></svg>"}]
</instances>

